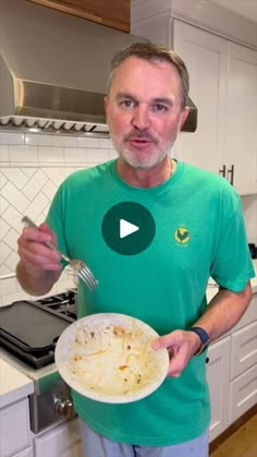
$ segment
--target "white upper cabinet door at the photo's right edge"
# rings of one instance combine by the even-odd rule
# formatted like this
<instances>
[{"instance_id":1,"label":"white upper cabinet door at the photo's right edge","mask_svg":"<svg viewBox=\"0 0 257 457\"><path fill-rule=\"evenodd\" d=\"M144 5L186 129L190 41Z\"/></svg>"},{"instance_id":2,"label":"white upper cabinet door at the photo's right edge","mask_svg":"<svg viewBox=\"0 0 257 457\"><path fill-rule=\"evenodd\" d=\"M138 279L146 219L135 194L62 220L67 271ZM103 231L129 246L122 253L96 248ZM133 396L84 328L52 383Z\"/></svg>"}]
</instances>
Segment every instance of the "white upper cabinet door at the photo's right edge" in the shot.
<instances>
[{"instance_id":1,"label":"white upper cabinet door at the photo's right edge","mask_svg":"<svg viewBox=\"0 0 257 457\"><path fill-rule=\"evenodd\" d=\"M229 44L225 161L234 184L257 182L257 51Z\"/></svg>"}]
</instances>

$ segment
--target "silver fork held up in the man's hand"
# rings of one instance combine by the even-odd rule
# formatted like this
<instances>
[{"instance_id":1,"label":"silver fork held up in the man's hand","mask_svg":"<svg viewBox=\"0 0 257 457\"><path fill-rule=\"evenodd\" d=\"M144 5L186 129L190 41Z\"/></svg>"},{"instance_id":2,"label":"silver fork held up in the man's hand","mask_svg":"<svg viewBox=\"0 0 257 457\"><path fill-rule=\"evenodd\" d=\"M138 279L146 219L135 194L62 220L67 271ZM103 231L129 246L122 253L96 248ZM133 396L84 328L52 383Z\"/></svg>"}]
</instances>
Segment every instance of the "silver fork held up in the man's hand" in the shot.
<instances>
[{"instance_id":1,"label":"silver fork held up in the man's hand","mask_svg":"<svg viewBox=\"0 0 257 457\"><path fill-rule=\"evenodd\" d=\"M36 226L36 224L32 219L29 219L29 217L27 217L27 216L24 216L22 218L22 223L26 224L26 226L28 226L28 227L33 227L33 228L36 228L36 229L38 228ZM69 263L69 265L76 273L76 275L86 284L88 289L95 290L97 288L98 280L95 278L91 270L88 268L87 265L85 265L85 263L83 261L73 260L73 258L68 257L68 255L60 252L59 249L50 242L47 242L45 244L48 245L48 248L52 249L53 251L59 252L61 257L64 258L64 261L66 261Z\"/></svg>"}]
</instances>

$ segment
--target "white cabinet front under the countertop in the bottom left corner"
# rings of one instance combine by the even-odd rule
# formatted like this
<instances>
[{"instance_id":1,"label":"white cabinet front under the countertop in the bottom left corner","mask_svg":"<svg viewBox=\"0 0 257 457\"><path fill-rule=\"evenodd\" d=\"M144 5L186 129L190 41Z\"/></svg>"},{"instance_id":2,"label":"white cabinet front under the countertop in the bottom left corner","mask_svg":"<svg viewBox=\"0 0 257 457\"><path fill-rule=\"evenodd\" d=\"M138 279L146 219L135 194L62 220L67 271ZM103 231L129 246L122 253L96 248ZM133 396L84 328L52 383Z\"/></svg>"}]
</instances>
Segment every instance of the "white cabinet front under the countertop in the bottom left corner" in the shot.
<instances>
[{"instance_id":1,"label":"white cabinet front under the countertop in the bottom left corner","mask_svg":"<svg viewBox=\"0 0 257 457\"><path fill-rule=\"evenodd\" d=\"M0 409L0 457L30 456L27 398Z\"/></svg>"}]
</instances>

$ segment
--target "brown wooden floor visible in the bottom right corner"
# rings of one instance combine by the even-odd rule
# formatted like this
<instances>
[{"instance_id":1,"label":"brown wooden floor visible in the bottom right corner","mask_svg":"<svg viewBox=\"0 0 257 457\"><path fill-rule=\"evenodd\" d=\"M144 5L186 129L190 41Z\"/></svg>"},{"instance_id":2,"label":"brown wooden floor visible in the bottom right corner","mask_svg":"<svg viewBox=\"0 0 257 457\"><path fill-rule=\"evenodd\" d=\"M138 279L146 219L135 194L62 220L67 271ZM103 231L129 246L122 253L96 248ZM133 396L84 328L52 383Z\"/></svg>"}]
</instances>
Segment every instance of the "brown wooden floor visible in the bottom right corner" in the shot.
<instances>
[{"instance_id":1,"label":"brown wooden floor visible in the bottom right corner","mask_svg":"<svg viewBox=\"0 0 257 457\"><path fill-rule=\"evenodd\" d=\"M256 457L257 413L210 453L210 457Z\"/></svg>"}]
</instances>

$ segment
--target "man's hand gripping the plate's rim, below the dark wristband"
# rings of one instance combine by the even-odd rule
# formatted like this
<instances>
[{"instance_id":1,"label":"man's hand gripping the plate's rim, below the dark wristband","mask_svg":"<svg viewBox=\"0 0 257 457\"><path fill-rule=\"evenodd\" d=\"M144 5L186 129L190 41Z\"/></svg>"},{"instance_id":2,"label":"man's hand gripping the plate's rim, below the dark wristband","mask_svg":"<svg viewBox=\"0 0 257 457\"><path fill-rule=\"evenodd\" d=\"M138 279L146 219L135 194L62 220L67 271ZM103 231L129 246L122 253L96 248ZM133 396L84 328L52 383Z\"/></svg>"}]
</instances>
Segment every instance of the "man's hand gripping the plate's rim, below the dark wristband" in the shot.
<instances>
[{"instance_id":1,"label":"man's hand gripping the plate's rim, below the dark wristband","mask_svg":"<svg viewBox=\"0 0 257 457\"><path fill-rule=\"evenodd\" d=\"M157 338L152 347L155 349L167 348L170 353L170 366L168 376L179 377L187 365L191 358L200 346L199 337L193 332L174 330Z\"/></svg>"}]
</instances>

